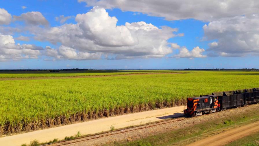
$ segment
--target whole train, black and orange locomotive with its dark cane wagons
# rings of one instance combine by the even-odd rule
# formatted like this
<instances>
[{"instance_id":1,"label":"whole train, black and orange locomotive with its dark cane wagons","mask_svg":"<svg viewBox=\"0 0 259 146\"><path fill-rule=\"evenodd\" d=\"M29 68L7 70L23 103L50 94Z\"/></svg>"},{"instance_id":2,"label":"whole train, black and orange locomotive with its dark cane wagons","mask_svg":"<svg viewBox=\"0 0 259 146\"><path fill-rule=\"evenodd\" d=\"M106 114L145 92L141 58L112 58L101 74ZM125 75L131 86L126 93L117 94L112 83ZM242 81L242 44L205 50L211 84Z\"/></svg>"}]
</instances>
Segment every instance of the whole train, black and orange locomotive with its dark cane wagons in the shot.
<instances>
[{"instance_id":1,"label":"whole train, black and orange locomotive with its dark cane wagons","mask_svg":"<svg viewBox=\"0 0 259 146\"><path fill-rule=\"evenodd\" d=\"M184 114L199 116L254 103L259 103L259 88L213 92L212 95L187 98Z\"/></svg>"}]
</instances>

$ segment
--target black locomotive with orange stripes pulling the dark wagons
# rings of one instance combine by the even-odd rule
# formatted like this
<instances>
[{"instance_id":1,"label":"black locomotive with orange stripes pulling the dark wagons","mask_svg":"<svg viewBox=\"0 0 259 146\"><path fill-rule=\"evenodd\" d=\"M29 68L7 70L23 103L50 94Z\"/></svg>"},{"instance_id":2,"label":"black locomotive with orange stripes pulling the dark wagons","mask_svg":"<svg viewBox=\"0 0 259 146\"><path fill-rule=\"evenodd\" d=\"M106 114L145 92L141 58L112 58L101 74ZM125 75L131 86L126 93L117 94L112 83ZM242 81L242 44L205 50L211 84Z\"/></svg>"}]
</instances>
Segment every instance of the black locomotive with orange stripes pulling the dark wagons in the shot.
<instances>
[{"instance_id":1,"label":"black locomotive with orange stripes pulling the dark wagons","mask_svg":"<svg viewBox=\"0 0 259 146\"><path fill-rule=\"evenodd\" d=\"M187 109L184 114L188 116L198 116L205 113L216 112L219 109L217 95L205 95L195 98L187 98Z\"/></svg>"}]
</instances>

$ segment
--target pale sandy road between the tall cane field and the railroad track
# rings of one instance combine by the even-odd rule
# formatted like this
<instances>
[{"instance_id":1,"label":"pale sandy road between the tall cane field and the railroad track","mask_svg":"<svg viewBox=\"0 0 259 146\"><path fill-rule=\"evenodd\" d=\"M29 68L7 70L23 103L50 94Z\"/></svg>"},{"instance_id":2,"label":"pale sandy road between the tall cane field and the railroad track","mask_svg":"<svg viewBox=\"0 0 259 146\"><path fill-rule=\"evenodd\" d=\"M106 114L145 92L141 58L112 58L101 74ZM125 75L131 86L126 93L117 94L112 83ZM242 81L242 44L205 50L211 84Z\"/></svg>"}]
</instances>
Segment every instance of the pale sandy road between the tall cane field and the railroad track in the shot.
<instances>
[{"instance_id":1,"label":"pale sandy road between the tall cane field and the railroad track","mask_svg":"<svg viewBox=\"0 0 259 146\"><path fill-rule=\"evenodd\" d=\"M114 126L116 129L160 121L170 117L177 117L183 114L183 109L184 106L171 107L17 134L0 138L0 145L21 146L21 144L29 144L35 139L37 139L40 143L53 140L53 138L62 140L65 136L74 136L78 131L80 131L83 135L95 134L102 131L109 131L111 126Z\"/></svg>"}]
</instances>

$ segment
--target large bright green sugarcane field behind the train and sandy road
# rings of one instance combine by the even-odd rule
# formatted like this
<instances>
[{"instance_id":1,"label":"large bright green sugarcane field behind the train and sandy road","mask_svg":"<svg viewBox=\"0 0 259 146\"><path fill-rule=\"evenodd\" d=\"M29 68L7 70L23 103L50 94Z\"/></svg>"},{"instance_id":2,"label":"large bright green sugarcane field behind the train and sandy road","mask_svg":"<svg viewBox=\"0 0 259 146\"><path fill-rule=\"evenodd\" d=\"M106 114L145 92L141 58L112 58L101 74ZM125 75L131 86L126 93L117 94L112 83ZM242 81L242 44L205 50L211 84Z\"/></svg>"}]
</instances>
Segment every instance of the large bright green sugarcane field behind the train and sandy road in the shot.
<instances>
[{"instance_id":1,"label":"large bright green sugarcane field behind the train and sandy road","mask_svg":"<svg viewBox=\"0 0 259 146\"><path fill-rule=\"evenodd\" d=\"M259 87L259 72L195 71L0 81L0 133L30 131L186 103L186 97Z\"/></svg>"}]
</instances>

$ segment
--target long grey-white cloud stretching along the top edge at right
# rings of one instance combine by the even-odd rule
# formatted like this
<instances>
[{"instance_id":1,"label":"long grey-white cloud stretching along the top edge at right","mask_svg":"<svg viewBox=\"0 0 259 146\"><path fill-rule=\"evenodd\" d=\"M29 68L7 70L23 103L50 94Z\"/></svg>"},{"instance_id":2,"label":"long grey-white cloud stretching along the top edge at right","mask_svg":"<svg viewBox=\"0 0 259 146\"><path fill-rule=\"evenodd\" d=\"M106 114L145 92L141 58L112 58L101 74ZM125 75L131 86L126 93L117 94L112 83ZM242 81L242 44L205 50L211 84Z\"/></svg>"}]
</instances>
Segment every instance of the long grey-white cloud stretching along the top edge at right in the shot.
<instances>
[{"instance_id":1,"label":"long grey-white cloud stretching along the top edge at right","mask_svg":"<svg viewBox=\"0 0 259 146\"><path fill-rule=\"evenodd\" d=\"M197 19L214 21L241 15L258 14L258 0L78 0L87 6L123 11L141 12L149 16L165 17L166 20Z\"/></svg>"}]
</instances>

